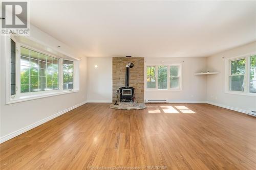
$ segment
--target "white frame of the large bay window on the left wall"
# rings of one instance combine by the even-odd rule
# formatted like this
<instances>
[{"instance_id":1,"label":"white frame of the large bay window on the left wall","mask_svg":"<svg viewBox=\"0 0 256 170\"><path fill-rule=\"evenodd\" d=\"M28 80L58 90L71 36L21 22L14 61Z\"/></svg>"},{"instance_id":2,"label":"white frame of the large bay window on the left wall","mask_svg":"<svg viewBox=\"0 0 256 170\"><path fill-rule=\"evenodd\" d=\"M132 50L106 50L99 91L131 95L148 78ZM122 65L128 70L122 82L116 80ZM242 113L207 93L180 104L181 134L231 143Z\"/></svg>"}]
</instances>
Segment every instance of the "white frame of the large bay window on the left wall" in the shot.
<instances>
[{"instance_id":1,"label":"white frame of the large bay window on the left wall","mask_svg":"<svg viewBox=\"0 0 256 170\"><path fill-rule=\"evenodd\" d=\"M10 87L10 72L11 72L11 63L10 63L10 43L11 39L16 43L16 54L15 54L15 85L16 85L16 93L14 95L10 95L11 87ZM60 58L50 53L43 52L41 50L35 49L29 45L20 43L13 37L6 37L6 104L18 103L23 101L35 100L40 98L46 98L54 95L61 95L66 93L79 92L79 61L75 59L66 59ZM46 54L50 57L54 57L58 59L58 89L57 90L46 90L46 91L38 91L38 92L26 92L20 93L20 46L24 46L36 52ZM63 90L63 60L73 61L73 89Z\"/></svg>"}]
</instances>

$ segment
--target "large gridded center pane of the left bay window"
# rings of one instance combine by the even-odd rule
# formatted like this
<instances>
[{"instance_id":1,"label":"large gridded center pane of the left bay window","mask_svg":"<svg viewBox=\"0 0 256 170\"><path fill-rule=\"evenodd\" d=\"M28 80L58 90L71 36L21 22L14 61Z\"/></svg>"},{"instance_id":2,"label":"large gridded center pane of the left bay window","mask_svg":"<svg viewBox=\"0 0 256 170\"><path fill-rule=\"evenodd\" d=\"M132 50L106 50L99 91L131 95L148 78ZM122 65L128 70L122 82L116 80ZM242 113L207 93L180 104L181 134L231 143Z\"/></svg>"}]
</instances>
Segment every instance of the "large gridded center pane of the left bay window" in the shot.
<instances>
[{"instance_id":1,"label":"large gridded center pane of the left bay window","mask_svg":"<svg viewBox=\"0 0 256 170\"><path fill-rule=\"evenodd\" d=\"M20 93L57 89L58 59L20 46Z\"/></svg>"}]
</instances>

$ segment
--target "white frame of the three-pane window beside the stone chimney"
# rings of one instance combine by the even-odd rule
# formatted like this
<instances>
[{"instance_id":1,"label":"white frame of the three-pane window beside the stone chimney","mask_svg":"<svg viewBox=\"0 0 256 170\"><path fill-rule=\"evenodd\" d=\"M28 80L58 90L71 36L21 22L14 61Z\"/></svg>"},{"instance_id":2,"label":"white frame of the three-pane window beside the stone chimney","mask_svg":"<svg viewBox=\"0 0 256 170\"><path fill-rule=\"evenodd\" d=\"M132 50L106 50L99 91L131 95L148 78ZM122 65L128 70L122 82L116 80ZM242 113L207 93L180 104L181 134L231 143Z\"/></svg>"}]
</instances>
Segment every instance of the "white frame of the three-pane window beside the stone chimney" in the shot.
<instances>
[{"instance_id":1,"label":"white frame of the three-pane window beside the stone chimney","mask_svg":"<svg viewBox=\"0 0 256 170\"><path fill-rule=\"evenodd\" d=\"M158 66L167 66L167 89L158 89ZM179 88L170 88L170 66L179 66ZM147 88L147 67L156 67L156 88ZM145 91L181 91L182 90L182 64L146 64L145 65Z\"/></svg>"}]
</instances>

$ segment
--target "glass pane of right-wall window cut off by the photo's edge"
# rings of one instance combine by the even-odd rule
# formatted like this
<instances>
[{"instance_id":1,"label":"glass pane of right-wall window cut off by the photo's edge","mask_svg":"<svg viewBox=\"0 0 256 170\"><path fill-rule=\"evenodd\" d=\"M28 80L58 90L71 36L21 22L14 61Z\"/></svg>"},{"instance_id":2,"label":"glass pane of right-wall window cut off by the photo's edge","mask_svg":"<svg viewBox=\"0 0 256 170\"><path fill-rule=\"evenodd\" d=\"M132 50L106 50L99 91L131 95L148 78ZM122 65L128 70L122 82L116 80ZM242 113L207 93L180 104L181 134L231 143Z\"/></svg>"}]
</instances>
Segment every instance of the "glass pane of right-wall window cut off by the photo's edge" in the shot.
<instances>
[{"instance_id":1,"label":"glass pane of right-wall window cut off by the photo's edge","mask_svg":"<svg viewBox=\"0 0 256 170\"><path fill-rule=\"evenodd\" d=\"M256 56L250 57L250 92L256 93Z\"/></svg>"}]
</instances>

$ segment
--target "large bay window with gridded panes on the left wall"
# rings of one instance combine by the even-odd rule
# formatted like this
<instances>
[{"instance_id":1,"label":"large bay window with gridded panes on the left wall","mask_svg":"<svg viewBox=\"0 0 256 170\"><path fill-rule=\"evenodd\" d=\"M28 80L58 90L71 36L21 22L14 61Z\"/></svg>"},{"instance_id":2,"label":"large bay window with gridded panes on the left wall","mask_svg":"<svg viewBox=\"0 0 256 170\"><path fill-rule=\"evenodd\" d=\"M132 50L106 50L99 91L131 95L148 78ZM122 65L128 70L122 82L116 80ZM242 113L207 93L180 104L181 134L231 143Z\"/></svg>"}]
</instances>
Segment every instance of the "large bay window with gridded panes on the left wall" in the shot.
<instances>
[{"instance_id":1,"label":"large bay window with gridded panes on the left wall","mask_svg":"<svg viewBox=\"0 0 256 170\"><path fill-rule=\"evenodd\" d=\"M79 90L79 61L68 56L54 56L59 52L45 51L22 44L19 38L4 37L10 42L6 59L6 104L45 98L47 96L77 92ZM25 41L24 41L25 42ZM31 41L26 41L34 46ZM41 50L40 50L41 49ZM50 53L50 54L49 54ZM68 59L68 60L67 60Z\"/></svg>"}]
</instances>

